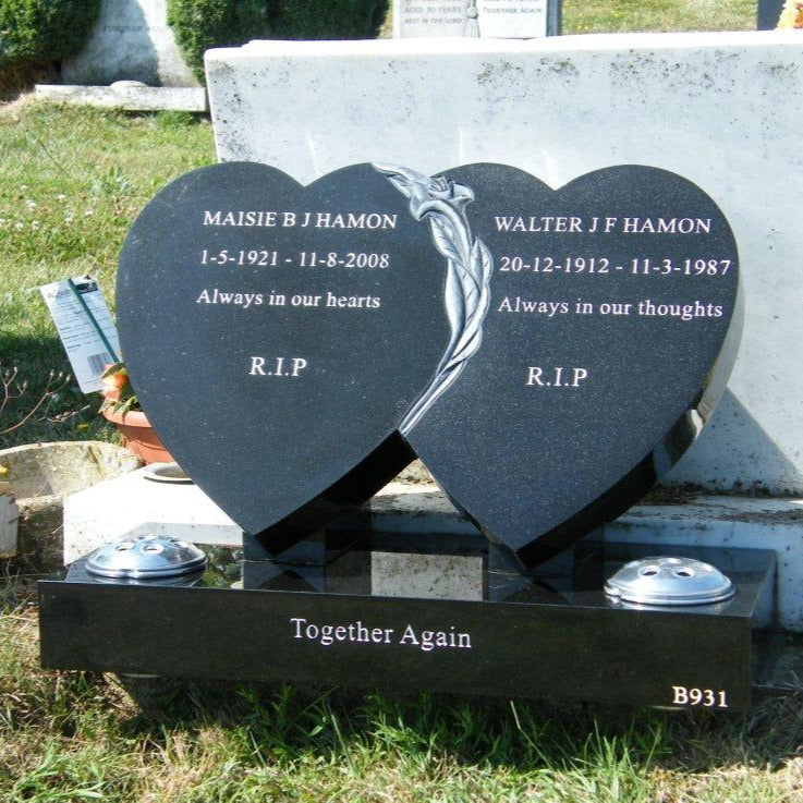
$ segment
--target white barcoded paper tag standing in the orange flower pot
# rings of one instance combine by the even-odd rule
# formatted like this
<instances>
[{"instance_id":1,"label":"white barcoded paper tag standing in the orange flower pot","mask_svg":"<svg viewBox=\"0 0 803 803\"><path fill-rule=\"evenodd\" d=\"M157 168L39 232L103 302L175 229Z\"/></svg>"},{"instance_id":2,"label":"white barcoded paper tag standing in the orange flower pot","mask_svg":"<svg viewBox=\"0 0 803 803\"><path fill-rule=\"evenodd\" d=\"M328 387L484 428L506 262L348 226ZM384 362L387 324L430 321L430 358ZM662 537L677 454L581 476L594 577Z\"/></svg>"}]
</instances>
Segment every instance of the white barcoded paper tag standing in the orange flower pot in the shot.
<instances>
[{"instance_id":1,"label":"white barcoded paper tag standing in the orange flower pot","mask_svg":"<svg viewBox=\"0 0 803 803\"><path fill-rule=\"evenodd\" d=\"M69 279L42 284L39 290L81 390L94 393L100 390L104 368L120 354L120 340L97 281L90 276L74 276L72 282L75 290L70 287ZM98 327L107 342L100 337ZM109 346L113 353L109 352Z\"/></svg>"}]
</instances>

